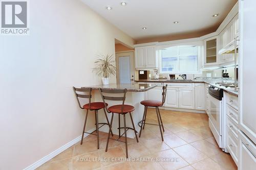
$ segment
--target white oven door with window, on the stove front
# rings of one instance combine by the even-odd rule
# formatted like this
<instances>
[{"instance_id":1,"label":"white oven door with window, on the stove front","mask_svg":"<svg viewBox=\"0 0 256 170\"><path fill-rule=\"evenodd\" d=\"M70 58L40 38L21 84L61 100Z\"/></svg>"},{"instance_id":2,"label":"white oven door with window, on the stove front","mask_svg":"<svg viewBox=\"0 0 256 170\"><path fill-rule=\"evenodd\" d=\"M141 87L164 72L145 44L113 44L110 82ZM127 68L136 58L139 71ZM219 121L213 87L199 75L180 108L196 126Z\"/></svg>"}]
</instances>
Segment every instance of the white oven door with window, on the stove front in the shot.
<instances>
[{"instance_id":1,"label":"white oven door with window, on the stove front","mask_svg":"<svg viewBox=\"0 0 256 170\"><path fill-rule=\"evenodd\" d=\"M217 140L221 140L219 139L220 136L222 135L222 131L221 131L221 116L222 116L222 101L214 98L210 93L209 93L209 127L212 131L212 133L215 136L215 139ZM218 138L218 139L217 139ZM218 144L220 144L218 142Z\"/></svg>"}]
</instances>

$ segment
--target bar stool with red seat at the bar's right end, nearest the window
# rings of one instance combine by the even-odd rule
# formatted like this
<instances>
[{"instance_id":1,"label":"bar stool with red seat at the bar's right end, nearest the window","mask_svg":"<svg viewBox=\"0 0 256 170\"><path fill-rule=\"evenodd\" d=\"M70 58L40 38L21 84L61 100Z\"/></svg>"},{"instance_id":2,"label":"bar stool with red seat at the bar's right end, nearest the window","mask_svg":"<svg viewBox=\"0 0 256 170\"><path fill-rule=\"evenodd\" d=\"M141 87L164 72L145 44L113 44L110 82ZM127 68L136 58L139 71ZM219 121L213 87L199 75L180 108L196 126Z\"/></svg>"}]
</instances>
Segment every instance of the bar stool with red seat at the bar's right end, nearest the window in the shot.
<instances>
[{"instance_id":1,"label":"bar stool with red seat at the bar's right end, nearest the window","mask_svg":"<svg viewBox=\"0 0 256 170\"><path fill-rule=\"evenodd\" d=\"M160 110L159 107L163 106L164 102L165 102L165 98L166 98L166 89L167 89L167 84L165 86L163 86L163 92L162 92L162 101L156 101L156 100L145 100L145 101L141 101L140 104L144 105L144 113L143 113L143 118L141 120L141 127L140 127L140 134L139 137L141 135L141 131L142 129L144 129L145 127L145 123L146 122L146 112L147 112L147 107L155 107L156 108L156 113L157 113L157 119L158 119L158 125L157 124L148 124L148 125L157 125L159 126L160 129L160 133L161 133L161 137L162 137L162 141L163 141L163 133L162 133L162 129L161 126L163 128L163 122L162 122L162 118L161 118L161 114L160 114ZM161 122L161 123L160 123ZM164 132L164 128L163 128L163 132Z\"/></svg>"}]
</instances>

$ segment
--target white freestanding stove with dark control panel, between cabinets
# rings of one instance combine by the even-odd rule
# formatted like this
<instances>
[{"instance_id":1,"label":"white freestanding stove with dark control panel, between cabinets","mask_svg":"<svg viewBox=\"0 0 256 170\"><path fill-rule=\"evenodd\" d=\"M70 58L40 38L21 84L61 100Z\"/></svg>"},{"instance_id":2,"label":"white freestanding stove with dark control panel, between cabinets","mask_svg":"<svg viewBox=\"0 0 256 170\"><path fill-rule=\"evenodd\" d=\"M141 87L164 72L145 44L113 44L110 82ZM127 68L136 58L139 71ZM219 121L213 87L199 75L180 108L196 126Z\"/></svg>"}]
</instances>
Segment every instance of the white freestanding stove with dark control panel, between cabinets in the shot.
<instances>
[{"instance_id":1,"label":"white freestanding stove with dark control panel, between cabinets","mask_svg":"<svg viewBox=\"0 0 256 170\"><path fill-rule=\"evenodd\" d=\"M223 89L208 85L208 93L209 93L209 107L208 107L208 115L209 115L209 128L214 134L214 137L222 149L222 151L227 152L226 142L225 142L225 115L223 112Z\"/></svg>"}]
</instances>

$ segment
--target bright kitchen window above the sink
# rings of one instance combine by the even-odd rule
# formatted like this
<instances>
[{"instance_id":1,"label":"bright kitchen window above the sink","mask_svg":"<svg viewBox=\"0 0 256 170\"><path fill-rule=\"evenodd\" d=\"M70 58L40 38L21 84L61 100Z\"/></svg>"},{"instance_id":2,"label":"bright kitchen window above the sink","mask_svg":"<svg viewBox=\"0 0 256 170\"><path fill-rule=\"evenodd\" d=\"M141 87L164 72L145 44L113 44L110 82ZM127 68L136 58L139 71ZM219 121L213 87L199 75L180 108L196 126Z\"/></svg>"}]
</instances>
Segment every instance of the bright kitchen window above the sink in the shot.
<instances>
[{"instance_id":1,"label":"bright kitchen window above the sink","mask_svg":"<svg viewBox=\"0 0 256 170\"><path fill-rule=\"evenodd\" d=\"M198 46L180 45L160 50L162 73L197 72Z\"/></svg>"}]
</instances>

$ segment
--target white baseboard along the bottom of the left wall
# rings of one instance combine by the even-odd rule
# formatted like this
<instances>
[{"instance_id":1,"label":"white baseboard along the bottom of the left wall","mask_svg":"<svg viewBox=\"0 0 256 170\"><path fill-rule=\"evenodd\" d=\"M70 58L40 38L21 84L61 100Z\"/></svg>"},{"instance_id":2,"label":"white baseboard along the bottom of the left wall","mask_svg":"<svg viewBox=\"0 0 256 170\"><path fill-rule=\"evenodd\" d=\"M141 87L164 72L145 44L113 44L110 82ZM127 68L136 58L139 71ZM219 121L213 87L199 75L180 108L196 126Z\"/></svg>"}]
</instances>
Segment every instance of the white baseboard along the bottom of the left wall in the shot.
<instances>
[{"instance_id":1,"label":"white baseboard along the bottom of the left wall","mask_svg":"<svg viewBox=\"0 0 256 170\"><path fill-rule=\"evenodd\" d=\"M93 131L95 131L96 128L93 128L89 131L87 131L88 133L92 133ZM87 137L89 134L88 133L84 133L83 138ZM46 163L47 161L49 161L50 159L52 159L53 157L57 156L58 154L60 154L61 152L65 151L66 149L70 148L72 145L74 145L75 143L79 142L81 140L81 136L78 136L77 138L75 138L74 140L66 143L65 145L63 145L62 147L60 147L59 149L53 151L52 153L50 153L49 155L45 156L44 158L36 161L35 163L33 163L32 165L26 167L24 170L32 170L35 169L39 166L41 166L42 164Z\"/></svg>"}]
</instances>

